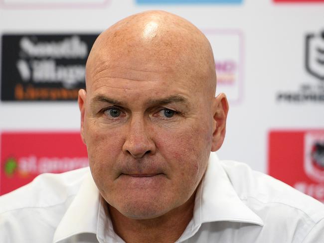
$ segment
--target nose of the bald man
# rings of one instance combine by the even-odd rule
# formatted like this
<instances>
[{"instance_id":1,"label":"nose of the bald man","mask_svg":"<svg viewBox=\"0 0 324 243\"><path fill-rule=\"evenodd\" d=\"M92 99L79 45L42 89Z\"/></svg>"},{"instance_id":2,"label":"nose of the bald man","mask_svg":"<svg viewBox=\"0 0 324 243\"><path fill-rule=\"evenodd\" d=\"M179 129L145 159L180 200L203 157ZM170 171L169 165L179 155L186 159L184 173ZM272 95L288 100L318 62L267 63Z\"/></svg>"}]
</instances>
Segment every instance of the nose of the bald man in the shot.
<instances>
[{"instance_id":1,"label":"nose of the bald man","mask_svg":"<svg viewBox=\"0 0 324 243\"><path fill-rule=\"evenodd\" d=\"M142 158L146 154L154 154L156 145L151 139L149 127L140 117L133 117L130 121L123 151L134 158Z\"/></svg>"}]
</instances>

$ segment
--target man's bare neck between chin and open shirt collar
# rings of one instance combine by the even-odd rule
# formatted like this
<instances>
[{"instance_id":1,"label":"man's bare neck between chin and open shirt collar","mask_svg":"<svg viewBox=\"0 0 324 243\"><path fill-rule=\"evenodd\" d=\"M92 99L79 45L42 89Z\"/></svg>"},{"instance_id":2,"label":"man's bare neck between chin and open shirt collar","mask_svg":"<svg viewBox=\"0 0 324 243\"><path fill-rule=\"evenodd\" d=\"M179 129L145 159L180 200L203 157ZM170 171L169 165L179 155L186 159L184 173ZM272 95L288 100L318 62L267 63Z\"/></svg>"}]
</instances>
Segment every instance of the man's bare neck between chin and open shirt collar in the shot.
<instances>
[{"instance_id":1,"label":"man's bare neck between chin and open shirt collar","mask_svg":"<svg viewBox=\"0 0 324 243\"><path fill-rule=\"evenodd\" d=\"M170 243L184 232L193 215L195 194L183 205L154 219L131 219L108 205L115 233L127 243Z\"/></svg>"}]
</instances>

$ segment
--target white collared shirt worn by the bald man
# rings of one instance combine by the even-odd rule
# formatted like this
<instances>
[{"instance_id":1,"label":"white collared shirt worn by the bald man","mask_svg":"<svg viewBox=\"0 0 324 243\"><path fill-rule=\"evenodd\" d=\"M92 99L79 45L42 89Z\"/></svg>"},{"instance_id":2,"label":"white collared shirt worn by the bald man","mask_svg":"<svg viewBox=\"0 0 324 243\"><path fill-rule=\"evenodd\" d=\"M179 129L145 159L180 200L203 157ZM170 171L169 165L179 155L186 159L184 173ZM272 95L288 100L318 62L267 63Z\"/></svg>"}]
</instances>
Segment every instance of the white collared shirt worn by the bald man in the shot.
<instances>
[{"instance_id":1,"label":"white collared shirt worn by the bald man","mask_svg":"<svg viewBox=\"0 0 324 243\"><path fill-rule=\"evenodd\" d=\"M0 197L0 243L123 243L89 168L42 174ZM324 205L211 153L177 243L324 243Z\"/></svg>"}]
</instances>

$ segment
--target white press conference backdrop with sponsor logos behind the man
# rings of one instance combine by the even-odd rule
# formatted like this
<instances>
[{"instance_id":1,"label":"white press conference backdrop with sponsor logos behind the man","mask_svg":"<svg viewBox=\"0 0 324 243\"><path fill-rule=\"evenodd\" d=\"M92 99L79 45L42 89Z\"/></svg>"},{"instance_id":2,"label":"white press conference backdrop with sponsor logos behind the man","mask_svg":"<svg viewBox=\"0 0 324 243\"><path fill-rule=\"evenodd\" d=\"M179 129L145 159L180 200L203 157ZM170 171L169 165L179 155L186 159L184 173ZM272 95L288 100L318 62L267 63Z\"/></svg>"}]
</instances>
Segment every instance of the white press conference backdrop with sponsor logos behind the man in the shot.
<instances>
[{"instance_id":1,"label":"white press conference backdrop with sponsor logos behind the man","mask_svg":"<svg viewBox=\"0 0 324 243\"><path fill-rule=\"evenodd\" d=\"M87 166L86 58L101 31L149 9L211 42L230 104L219 157L324 201L324 0L0 0L0 194Z\"/></svg>"}]
</instances>

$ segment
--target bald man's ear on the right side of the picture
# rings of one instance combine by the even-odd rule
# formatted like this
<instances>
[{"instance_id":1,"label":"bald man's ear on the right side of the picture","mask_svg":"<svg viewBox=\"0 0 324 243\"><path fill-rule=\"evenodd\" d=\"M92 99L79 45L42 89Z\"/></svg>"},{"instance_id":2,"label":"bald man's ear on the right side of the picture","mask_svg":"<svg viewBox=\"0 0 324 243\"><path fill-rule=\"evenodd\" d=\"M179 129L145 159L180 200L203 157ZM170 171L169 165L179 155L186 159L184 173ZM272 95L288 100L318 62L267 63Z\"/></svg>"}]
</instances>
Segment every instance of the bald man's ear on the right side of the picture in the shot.
<instances>
[{"instance_id":1,"label":"bald man's ear on the right side of the picture","mask_svg":"<svg viewBox=\"0 0 324 243\"><path fill-rule=\"evenodd\" d=\"M213 137L211 151L217 151L223 144L225 137L228 103L225 94L219 94L213 101Z\"/></svg>"}]
</instances>

